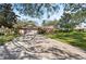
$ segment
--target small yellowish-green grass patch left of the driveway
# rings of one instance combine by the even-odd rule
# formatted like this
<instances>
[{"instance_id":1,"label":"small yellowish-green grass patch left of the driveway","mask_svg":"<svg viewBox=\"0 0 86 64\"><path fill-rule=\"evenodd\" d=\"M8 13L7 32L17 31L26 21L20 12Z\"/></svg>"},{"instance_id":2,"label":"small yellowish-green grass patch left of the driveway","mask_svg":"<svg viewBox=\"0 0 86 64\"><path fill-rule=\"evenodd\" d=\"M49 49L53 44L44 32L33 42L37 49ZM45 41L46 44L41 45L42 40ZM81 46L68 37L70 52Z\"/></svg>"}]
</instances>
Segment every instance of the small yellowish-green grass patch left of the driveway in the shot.
<instances>
[{"instance_id":1,"label":"small yellowish-green grass patch left of the driveway","mask_svg":"<svg viewBox=\"0 0 86 64\"><path fill-rule=\"evenodd\" d=\"M0 46L3 46L5 42L13 40L17 35L1 35L0 36Z\"/></svg>"}]
</instances>

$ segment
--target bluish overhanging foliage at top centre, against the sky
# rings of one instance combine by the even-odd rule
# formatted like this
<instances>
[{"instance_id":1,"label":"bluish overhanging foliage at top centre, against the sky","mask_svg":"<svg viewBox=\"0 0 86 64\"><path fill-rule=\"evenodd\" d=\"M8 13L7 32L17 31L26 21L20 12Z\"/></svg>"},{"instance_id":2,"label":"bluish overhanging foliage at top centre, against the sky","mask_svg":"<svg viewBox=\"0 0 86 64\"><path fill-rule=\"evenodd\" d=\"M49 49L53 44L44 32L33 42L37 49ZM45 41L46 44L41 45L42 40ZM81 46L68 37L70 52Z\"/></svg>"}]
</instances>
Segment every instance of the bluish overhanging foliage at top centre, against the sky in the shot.
<instances>
[{"instance_id":1,"label":"bluish overhanging foliage at top centre, against the sky","mask_svg":"<svg viewBox=\"0 0 86 64\"><path fill-rule=\"evenodd\" d=\"M45 13L47 17L49 17L59 11L59 4L54 3L20 3L14 4L14 8L20 11L21 14L38 18L42 17Z\"/></svg>"}]
</instances>

